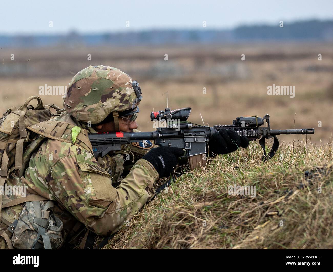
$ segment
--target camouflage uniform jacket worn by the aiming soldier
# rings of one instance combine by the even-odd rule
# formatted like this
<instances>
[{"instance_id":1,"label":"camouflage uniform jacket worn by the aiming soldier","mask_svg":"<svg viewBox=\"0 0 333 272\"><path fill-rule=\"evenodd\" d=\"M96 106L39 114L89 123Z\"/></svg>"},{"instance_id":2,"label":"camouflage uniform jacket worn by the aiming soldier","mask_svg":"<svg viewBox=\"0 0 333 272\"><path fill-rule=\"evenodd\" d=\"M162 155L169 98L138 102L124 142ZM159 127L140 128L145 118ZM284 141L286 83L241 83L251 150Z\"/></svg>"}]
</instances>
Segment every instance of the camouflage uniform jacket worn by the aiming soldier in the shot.
<instances>
[{"instance_id":1,"label":"camouflage uniform jacket worn by the aiming soldier","mask_svg":"<svg viewBox=\"0 0 333 272\"><path fill-rule=\"evenodd\" d=\"M52 120L96 132L74 121L67 112ZM93 154L76 145L46 139L25 171L28 191L57 201L98 235L112 234L155 195L153 185L159 175L147 160L140 159L151 147L151 143L145 149L138 144L124 145L113 156L108 154L96 161ZM123 154L134 154L137 160L124 179ZM119 181L116 188L112 186Z\"/></svg>"}]
</instances>

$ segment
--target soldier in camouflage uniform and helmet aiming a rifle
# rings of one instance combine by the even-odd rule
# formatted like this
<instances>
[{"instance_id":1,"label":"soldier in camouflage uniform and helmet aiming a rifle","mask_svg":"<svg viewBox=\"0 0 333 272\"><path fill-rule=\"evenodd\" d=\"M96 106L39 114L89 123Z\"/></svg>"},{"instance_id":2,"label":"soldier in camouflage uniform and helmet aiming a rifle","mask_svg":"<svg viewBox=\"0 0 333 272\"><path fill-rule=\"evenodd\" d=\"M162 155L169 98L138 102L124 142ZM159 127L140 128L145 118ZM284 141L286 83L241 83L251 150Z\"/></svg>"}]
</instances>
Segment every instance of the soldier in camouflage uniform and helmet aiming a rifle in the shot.
<instances>
[{"instance_id":1,"label":"soldier in camouflage uniform and helmet aiming a rifle","mask_svg":"<svg viewBox=\"0 0 333 272\"><path fill-rule=\"evenodd\" d=\"M89 133L133 132L138 127L135 119L141 99L138 83L126 73L108 66L90 66L73 77L64 97L66 111L53 120ZM76 135L73 128L72 137ZM146 143L123 145L122 150L96 160L89 150L77 145L45 139L33 153L24 178L30 193L59 204L58 214L67 233L75 229L74 216L94 233L110 235L155 196L154 182L169 176L177 158L184 155L180 148L153 148L152 142ZM247 147L248 140L233 130L220 130L209 143L215 154L232 152L238 146ZM123 178L125 154L131 155L133 164Z\"/></svg>"}]
</instances>

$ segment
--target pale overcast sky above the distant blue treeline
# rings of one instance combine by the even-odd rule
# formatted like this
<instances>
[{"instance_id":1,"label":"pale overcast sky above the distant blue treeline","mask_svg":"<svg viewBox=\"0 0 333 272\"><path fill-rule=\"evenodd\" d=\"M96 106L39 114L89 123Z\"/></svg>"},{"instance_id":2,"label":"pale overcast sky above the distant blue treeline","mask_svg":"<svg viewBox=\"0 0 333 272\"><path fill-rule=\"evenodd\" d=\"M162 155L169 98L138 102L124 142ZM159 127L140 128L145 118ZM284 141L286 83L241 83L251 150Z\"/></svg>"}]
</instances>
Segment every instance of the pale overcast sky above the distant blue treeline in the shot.
<instances>
[{"instance_id":1,"label":"pale overcast sky above the distant blue treeline","mask_svg":"<svg viewBox=\"0 0 333 272\"><path fill-rule=\"evenodd\" d=\"M332 19L333 0L15 0L1 1L1 34L124 32L151 29L232 28ZM49 27L49 22L53 27ZM129 26L126 27L127 21Z\"/></svg>"}]
</instances>

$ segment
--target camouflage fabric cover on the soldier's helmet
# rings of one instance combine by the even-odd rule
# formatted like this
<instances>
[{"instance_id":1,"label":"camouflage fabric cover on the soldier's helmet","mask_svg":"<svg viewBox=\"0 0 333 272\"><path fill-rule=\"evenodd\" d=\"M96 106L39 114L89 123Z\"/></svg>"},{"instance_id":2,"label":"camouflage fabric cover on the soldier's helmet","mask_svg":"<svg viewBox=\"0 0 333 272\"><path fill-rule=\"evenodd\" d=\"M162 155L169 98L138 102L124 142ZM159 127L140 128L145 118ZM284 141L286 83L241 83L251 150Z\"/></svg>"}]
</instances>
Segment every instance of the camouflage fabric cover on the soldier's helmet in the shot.
<instances>
[{"instance_id":1,"label":"camouflage fabric cover on the soldier's helmet","mask_svg":"<svg viewBox=\"0 0 333 272\"><path fill-rule=\"evenodd\" d=\"M78 121L97 124L111 112L134 109L140 99L132 78L109 66L89 66L68 84L64 108Z\"/></svg>"}]
</instances>

